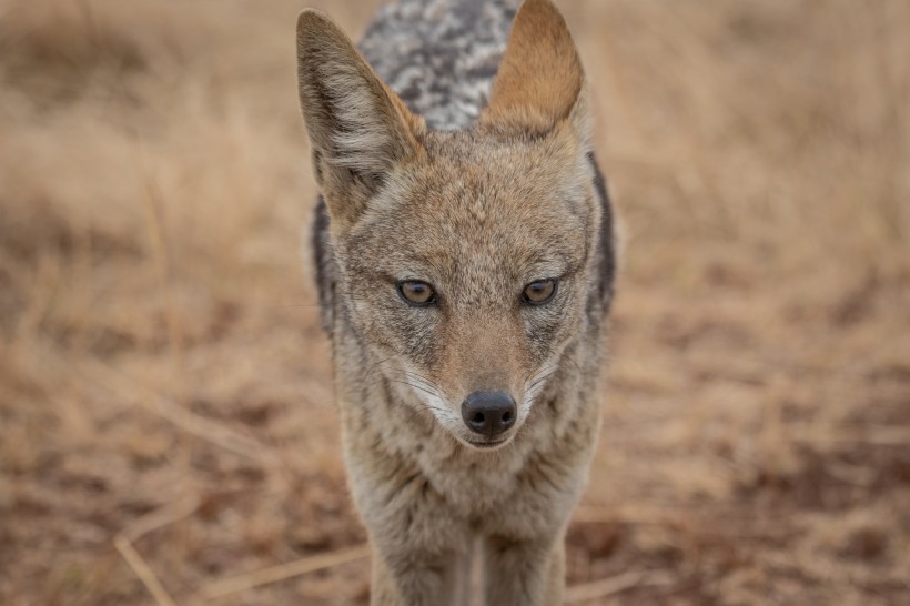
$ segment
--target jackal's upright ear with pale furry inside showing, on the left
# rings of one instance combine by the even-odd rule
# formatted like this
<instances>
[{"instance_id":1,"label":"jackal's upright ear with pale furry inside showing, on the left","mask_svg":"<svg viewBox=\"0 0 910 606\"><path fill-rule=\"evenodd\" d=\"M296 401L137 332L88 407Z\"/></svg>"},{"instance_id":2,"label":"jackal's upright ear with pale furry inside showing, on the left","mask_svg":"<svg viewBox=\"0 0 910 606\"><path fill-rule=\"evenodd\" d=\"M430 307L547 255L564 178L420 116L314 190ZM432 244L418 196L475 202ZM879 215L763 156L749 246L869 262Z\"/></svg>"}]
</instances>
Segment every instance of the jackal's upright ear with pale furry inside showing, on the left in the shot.
<instances>
[{"instance_id":1,"label":"jackal's upright ear with pale furry inside showing, on the left","mask_svg":"<svg viewBox=\"0 0 910 606\"><path fill-rule=\"evenodd\" d=\"M297 19L297 78L316 181L332 219L351 224L385 176L421 153L423 119L312 9Z\"/></svg>"}]
</instances>

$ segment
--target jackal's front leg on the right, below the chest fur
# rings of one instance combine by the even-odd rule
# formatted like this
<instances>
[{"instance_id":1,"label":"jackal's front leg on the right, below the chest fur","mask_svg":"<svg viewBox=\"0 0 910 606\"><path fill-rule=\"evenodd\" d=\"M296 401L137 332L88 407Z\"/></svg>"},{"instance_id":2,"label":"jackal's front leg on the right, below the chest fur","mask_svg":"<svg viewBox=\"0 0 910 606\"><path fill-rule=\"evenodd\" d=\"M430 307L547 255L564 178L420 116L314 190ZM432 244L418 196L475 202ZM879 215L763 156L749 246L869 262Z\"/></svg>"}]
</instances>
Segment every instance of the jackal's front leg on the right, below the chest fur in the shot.
<instances>
[{"instance_id":1,"label":"jackal's front leg on the right, below the chest fur","mask_svg":"<svg viewBox=\"0 0 910 606\"><path fill-rule=\"evenodd\" d=\"M559 606L565 552L557 541L488 538L484 546L487 606Z\"/></svg>"}]
</instances>

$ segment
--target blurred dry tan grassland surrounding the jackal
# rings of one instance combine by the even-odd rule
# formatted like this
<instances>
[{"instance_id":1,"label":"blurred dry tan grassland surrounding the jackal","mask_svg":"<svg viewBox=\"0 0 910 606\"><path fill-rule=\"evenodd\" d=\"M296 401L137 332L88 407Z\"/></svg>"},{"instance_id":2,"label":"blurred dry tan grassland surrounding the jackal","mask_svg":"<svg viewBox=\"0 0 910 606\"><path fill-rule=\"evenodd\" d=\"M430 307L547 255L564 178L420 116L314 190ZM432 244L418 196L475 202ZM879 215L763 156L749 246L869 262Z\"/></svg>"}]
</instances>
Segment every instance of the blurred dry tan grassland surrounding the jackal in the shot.
<instances>
[{"instance_id":1,"label":"blurred dry tan grassland surrounding the jackal","mask_svg":"<svg viewBox=\"0 0 910 606\"><path fill-rule=\"evenodd\" d=\"M567 599L910 604L910 3L557 3L626 240ZM366 604L304 6L0 0L6 606Z\"/></svg>"}]
</instances>

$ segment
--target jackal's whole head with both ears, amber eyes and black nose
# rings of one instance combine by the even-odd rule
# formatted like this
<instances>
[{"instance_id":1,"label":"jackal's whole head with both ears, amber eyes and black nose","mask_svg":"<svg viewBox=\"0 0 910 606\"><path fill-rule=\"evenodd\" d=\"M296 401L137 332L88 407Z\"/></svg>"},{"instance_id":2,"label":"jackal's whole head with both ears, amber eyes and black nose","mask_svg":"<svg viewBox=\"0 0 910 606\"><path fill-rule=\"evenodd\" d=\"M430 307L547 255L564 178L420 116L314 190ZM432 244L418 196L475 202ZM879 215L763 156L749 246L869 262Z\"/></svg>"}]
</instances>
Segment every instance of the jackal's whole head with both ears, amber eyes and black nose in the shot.
<instances>
[{"instance_id":1,"label":"jackal's whole head with both ears, amber eyes and black nose","mask_svg":"<svg viewBox=\"0 0 910 606\"><path fill-rule=\"evenodd\" d=\"M301 16L299 50L351 329L403 402L463 443L507 443L594 287L599 205L564 21L525 3L488 107L461 132L428 131L320 13Z\"/></svg>"}]
</instances>

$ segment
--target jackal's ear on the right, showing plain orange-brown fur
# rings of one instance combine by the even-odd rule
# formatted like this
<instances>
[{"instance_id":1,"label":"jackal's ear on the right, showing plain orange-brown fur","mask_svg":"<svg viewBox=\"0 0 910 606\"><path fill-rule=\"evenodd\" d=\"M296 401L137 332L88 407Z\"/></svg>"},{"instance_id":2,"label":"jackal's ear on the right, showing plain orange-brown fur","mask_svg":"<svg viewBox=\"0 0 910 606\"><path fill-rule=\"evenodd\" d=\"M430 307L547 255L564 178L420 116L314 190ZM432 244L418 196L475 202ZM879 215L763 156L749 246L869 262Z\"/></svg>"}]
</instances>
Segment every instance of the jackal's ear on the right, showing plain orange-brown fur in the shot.
<instances>
[{"instance_id":1,"label":"jackal's ear on the right, showing plain orange-brown fur","mask_svg":"<svg viewBox=\"0 0 910 606\"><path fill-rule=\"evenodd\" d=\"M589 131L582 61L566 21L550 0L525 0L515 16L483 127L540 135L568 120Z\"/></svg>"}]
</instances>

